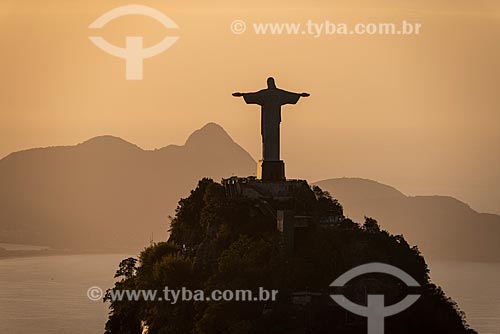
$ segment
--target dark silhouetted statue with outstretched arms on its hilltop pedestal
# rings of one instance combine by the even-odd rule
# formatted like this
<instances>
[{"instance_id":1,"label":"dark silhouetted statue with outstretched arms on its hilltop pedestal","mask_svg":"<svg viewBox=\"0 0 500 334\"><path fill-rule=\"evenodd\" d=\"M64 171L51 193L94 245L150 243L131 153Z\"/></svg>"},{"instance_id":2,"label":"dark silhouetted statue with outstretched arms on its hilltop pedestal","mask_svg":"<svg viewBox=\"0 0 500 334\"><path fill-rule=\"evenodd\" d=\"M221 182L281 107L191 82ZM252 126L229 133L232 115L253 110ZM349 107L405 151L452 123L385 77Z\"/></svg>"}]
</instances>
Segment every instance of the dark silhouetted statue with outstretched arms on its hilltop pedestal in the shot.
<instances>
[{"instance_id":1,"label":"dark silhouetted statue with outstretched arms on its hilltop pedestal","mask_svg":"<svg viewBox=\"0 0 500 334\"><path fill-rule=\"evenodd\" d=\"M285 168L280 160L281 106L296 104L307 93L291 93L276 88L274 78L267 79L267 88L255 93L234 93L242 96L247 104L261 106L262 160L258 177L263 180L284 180Z\"/></svg>"}]
</instances>

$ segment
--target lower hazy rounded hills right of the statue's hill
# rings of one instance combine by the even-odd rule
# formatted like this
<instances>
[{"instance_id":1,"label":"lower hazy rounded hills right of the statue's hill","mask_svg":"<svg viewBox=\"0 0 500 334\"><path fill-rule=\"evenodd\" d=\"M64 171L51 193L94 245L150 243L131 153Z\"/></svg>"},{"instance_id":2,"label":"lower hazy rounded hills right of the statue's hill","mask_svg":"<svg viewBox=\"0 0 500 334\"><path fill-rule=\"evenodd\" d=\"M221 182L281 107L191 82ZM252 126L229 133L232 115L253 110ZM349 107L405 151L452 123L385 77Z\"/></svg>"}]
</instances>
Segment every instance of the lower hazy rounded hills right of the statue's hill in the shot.
<instances>
[{"instance_id":1,"label":"lower hazy rounded hills right of the statue's hill","mask_svg":"<svg viewBox=\"0 0 500 334\"><path fill-rule=\"evenodd\" d=\"M347 216L377 219L403 234L423 254L457 260L500 260L500 216L478 213L447 196L410 197L371 180L339 178L316 182L343 205Z\"/></svg>"}]
</instances>

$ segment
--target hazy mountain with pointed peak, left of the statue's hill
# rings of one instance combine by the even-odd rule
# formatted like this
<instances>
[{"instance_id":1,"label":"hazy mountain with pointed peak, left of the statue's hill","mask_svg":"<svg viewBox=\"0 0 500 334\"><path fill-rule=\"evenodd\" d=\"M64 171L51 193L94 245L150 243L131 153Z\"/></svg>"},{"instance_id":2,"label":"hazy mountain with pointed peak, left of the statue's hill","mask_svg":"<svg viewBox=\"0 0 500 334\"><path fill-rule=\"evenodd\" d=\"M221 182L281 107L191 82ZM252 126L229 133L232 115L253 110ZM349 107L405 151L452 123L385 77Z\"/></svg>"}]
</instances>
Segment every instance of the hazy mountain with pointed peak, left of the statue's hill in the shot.
<instances>
[{"instance_id":1,"label":"hazy mountain with pointed peak, left of the statue's hill","mask_svg":"<svg viewBox=\"0 0 500 334\"><path fill-rule=\"evenodd\" d=\"M217 124L146 151L102 136L0 160L0 241L58 248L143 247L197 180L251 175L255 161Z\"/></svg>"}]
</instances>

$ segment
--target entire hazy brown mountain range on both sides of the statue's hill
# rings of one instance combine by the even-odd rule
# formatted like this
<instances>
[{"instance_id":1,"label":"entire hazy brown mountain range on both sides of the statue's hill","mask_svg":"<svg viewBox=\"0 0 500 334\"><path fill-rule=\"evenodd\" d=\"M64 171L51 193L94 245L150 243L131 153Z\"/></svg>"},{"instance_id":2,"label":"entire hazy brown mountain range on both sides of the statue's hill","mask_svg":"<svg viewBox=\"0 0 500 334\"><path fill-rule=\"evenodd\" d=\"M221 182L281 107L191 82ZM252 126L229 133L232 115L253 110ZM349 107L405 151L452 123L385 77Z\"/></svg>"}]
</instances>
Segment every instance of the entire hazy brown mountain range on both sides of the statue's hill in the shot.
<instances>
[{"instance_id":1,"label":"entire hazy brown mountain range on both sides of the statue's hill","mask_svg":"<svg viewBox=\"0 0 500 334\"><path fill-rule=\"evenodd\" d=\"M146 151L102 136L0 160L0 242L70 249L139 248L165 240L168 216L202 177L255 174L254 159L219 125L183 146ZM500 216L451 197L409 197L365 179L317 182L346 215L376 218L434 258L500 260Z\"/></svg>"}]
</instances>

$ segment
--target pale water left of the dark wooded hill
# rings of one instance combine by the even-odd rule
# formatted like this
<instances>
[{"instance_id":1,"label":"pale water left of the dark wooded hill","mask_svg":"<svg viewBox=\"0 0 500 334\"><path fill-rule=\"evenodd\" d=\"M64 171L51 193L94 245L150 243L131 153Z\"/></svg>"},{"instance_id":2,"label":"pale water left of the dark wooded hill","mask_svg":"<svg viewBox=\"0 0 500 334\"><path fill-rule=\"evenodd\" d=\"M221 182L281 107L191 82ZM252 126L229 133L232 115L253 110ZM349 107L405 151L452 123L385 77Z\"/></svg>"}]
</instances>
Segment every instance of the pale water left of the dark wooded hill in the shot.
<instances>
[{"instance_id":1,"label":"pale water left of the dark wooded hill","mask_svg":"<svg viewBox=\"0 0 500 334\"><path fill-rule=\"evenodd\" d=\"M70 255L0 260L0 333L103 333L108 306L92 286L114 284L127 255Z\"/></svg>"}]
</instances>

